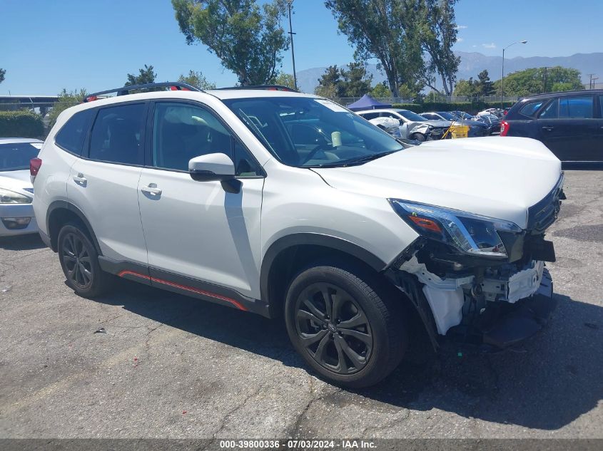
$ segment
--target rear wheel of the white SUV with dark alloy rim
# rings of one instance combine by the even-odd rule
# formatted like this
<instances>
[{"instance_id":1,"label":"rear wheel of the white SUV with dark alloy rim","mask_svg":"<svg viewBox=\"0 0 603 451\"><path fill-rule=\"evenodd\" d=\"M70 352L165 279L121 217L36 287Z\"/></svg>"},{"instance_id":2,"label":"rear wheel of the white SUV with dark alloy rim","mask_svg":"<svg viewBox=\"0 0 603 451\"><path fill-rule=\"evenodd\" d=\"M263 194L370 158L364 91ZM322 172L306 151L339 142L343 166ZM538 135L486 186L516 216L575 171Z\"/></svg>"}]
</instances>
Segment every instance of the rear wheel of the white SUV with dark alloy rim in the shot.
<instances>
[{"instance_id":1,"label":"rear wheel of the white SUV with dark alloy rim","mask_svg":"<svg viewBox=\"0 0 603 451\"><path fill-rule=\"evenodd\" d=\"M98 252L79 224L65 224L59 231L59 261L67 284L84 298L95 298L111 288L113 276L101 269Z\"/></svg>"}]
</instances>

